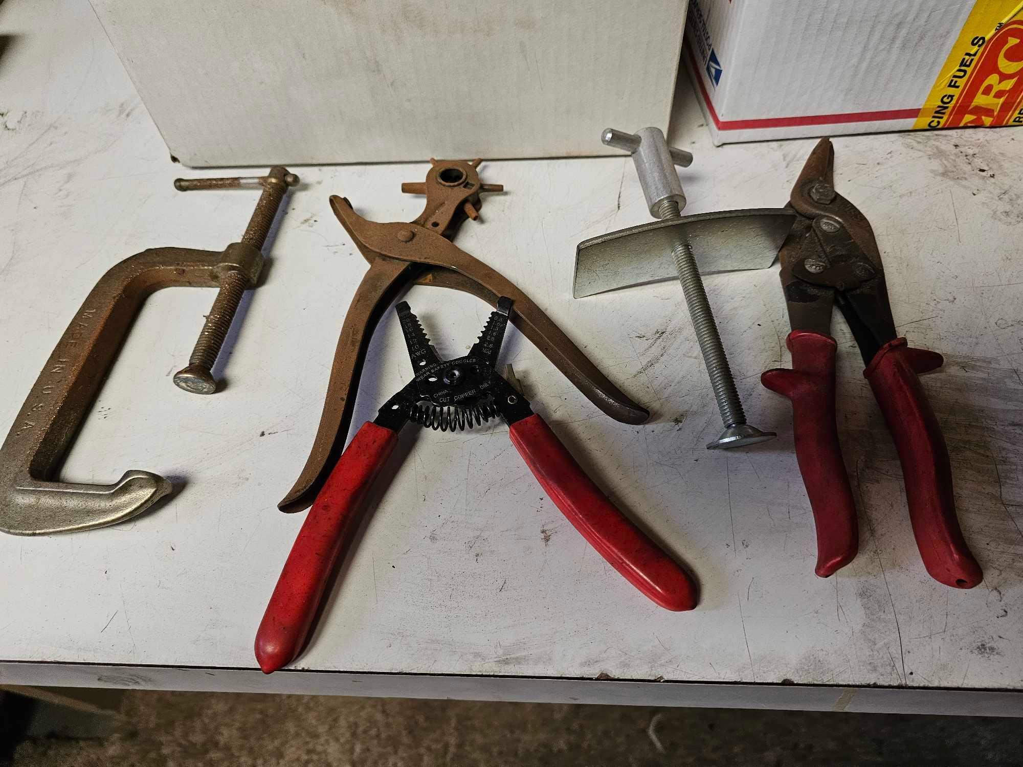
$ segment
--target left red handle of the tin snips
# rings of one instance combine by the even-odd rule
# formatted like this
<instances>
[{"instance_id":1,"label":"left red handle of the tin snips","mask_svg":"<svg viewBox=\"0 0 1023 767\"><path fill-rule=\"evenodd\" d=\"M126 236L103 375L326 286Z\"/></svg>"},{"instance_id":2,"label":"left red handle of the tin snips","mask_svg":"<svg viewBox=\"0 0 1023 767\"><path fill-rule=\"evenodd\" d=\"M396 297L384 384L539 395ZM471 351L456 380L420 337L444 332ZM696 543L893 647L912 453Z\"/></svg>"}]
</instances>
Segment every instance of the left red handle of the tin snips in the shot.
<instances>
[{"instance_id":1,"label":"left red handle of the tin snips","mask_svg":"<svg viewBox=\"0 0 1023 767\"><path fill-rule=\"evenodd\" d=\"M817 531L814 572L827 578L852 561L859 547L856 504L835 422L838 345L810 330L793 330L785 343L792 352L792 369L767 370L760 381L792 401L796 460Z\"/></svg>"}]
</instances>

